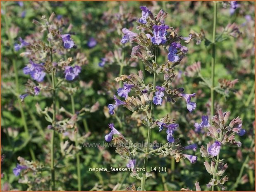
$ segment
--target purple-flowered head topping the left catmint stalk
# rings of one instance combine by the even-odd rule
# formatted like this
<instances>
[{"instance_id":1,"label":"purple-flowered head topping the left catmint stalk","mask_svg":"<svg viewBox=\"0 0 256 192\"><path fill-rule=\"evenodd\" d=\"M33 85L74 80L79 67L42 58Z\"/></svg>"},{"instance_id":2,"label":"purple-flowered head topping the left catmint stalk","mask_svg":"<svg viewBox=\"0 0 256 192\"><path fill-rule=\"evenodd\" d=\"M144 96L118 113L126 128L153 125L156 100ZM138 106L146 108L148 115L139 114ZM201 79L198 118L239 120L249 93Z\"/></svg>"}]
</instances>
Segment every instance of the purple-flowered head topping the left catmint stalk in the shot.
<instances>
[{"instance_id":1,"label":"purple-flowered head topping the left catmint stalk","mask_svg":"<svg viewBox=\"0 0 256 192\"><path fill-rule=\"evenodd\" d=\"M58 26L57 18L53 19L54 15L51 16L51 21L53 24L49 25L49 21L42 17L42 20L45 24L42 25L43 31L48 30L48 41L50 42L50 46L47 46L40 40L30 40L27 42L22 38L19 38L21 44L14 44L14 50L19 51L21 48L26 47L26 51L22 52L21 55L29 57L29 64L27 64L23 72L25 75L31 76L33 80L35 80L39 85L33 86L33 88L28 88L27 92L23 95L20 95L21 100L23 101L25 97L28 95L38 95L41 88L43 88L43 81L46 74L51 74L52 72L60 73L60 77L64 78L66 81L74 81L79 77L79 73L81 73L81 65L74 64L69 65L72 62L72 58L69 58L68 61L63 62L50 62L49 57L45 57L44 52L48 52L50 54L58 53L63 55L67 52L67 50L75 48L76 45L72 40L70 34L61 34L62 26ZM40 24L39 21L34 20L35 24ZM51 53L50 53L51 52ZM79 58L82 59L82 58ZM41 84L40 84L41 83Z\"/></svg>"}]
</instances>

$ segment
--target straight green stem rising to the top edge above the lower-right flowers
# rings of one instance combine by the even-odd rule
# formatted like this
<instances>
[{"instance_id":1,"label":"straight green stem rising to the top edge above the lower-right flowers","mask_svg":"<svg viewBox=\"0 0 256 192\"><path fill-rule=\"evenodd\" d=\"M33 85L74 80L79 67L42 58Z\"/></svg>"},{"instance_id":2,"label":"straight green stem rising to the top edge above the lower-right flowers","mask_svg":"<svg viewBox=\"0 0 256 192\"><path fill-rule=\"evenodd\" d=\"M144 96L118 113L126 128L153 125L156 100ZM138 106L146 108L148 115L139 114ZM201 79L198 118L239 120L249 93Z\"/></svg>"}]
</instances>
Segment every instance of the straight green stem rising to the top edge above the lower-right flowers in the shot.
<instances>
[{"instance_id":1,"label":"straight green stem rising to the top edge above the lower-right flowers","mask_svg":"<svg viewBox=\"0 0 256 192\"><path fill-rule=\"evenodd\" d=\"M215 75L215 36L216 36L216 22L217 22L217 2L213 2L213 47L212 47L212 59L211 59L211 116L214 115L214 75Z\"/></svg>"}]
</instances>

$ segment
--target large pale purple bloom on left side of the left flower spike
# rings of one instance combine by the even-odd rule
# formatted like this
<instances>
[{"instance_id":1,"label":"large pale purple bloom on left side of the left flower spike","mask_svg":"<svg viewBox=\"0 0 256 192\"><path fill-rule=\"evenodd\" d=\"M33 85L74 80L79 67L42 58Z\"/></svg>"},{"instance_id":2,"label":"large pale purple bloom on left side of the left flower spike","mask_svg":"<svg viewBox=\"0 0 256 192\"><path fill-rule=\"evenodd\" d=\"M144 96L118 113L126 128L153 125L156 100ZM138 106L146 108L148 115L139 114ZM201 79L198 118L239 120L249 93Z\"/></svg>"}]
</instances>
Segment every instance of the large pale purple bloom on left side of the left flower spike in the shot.
<instances>
[{"instance_id":1,"label":"large pale purple bloom on left side of the left flower spike","mask_svg":"<svg viewBox=\"0 0 256 192\"><path fill-rule=\"evenodd\" d=\"M23 68L23 73L26 75L30 75L34 80L41 82L45 77L46 73L44 72L43 64L35 64L31 60L29 64Z\"/></svg>"}]
</instances>

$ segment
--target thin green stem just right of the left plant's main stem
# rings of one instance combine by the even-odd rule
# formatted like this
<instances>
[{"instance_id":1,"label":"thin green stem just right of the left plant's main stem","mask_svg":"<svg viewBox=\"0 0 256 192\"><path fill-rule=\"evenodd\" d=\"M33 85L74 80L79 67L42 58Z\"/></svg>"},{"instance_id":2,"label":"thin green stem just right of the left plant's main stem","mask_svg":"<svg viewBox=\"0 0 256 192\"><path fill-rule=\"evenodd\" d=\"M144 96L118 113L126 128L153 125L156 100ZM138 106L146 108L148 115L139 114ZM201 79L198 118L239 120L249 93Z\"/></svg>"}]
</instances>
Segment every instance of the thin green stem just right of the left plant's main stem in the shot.
<instances>
[{"instance_id":1,"label":"thin green stem just right of the left plant's main stem","mask_svg":"<svg viewBox=\"0 0 256 192\"><path fill-rule=\"evenodd\" d=\"M74 97L71 94L70 95L71 98L71 105L72 105L72 114L75 114L75 105L74 105ZM79 129L77 128L77 133L75 133L75 145L76 145L76 149L78 148L79 144L77 141L77 136L79 134ZM80 169L80 156L79 156L79 152L76 153L76 159L77 159L77 185L78 185L78 191L81 191L81 169Z\"/></svg>"}]
</instances>

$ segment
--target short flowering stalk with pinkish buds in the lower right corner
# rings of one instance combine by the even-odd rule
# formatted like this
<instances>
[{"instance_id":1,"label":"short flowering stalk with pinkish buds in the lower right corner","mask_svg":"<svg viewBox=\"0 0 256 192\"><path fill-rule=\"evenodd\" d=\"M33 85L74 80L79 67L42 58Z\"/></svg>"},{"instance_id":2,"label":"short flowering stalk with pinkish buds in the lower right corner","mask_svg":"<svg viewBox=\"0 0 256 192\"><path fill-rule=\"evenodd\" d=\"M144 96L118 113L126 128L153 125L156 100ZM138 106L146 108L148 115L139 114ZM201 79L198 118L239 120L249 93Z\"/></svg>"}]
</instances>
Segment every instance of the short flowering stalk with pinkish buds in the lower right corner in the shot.
<instances>
[{"instance_id":1,"label":"short flowering stalk with pinkish buds in the lower right corner","mask_svg":"<svg viewBox=\"0 0 256 192\"><path fill-rule=\"evenodd\" d=\"M243 136L246 133L242 129L242 119L237 117L227 124L229 117L229 111L223 113L222 109L218 110L218 115L212 117L212 125L207 127L207 135L213 138L213 142L209 142L207 147L202 145L200 149L203 157L211 159L211 165L205 161L204 166L206 171L213 175L211 181L206 185L212 191L214 191L215 186L225 190L224 184L228 181L227 176L216 179L217 176L222 177L228 168L224 159L220 159L221 148L225 145L241 147L242 143L236 139L235 135Z\"/></svg>"}]
</instances>

